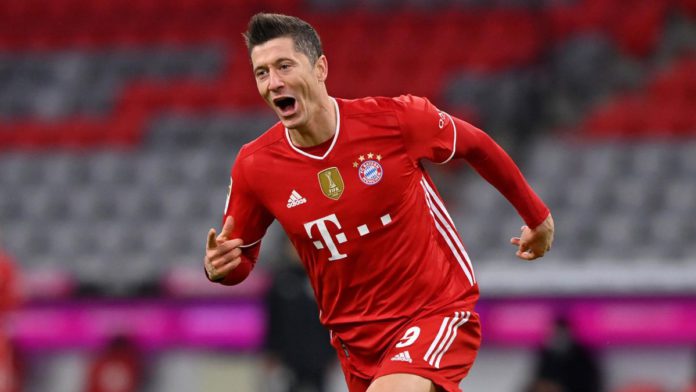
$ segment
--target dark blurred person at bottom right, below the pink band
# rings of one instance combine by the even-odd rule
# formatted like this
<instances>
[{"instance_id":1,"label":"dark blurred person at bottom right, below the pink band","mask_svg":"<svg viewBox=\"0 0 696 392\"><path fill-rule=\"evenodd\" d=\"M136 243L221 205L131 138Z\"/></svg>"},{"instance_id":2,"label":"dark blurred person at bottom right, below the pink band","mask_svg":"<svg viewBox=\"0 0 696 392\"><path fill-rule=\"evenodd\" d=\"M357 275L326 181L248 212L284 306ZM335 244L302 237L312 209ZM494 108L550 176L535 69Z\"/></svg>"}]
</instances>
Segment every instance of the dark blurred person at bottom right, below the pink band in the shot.
<instances>
[{"instance_id":1,"label":"dark blurred person at bottom right, below the pink band","mask_svg":"<svg viewBox=\"0 0 696 392\"><path fill-rule=\"evenodd\" d=\"M574 336L565 317L553 329L538 354L535 380L529 392L601 392L600 366L592 351Z\"/></svg>"}]
</instances>

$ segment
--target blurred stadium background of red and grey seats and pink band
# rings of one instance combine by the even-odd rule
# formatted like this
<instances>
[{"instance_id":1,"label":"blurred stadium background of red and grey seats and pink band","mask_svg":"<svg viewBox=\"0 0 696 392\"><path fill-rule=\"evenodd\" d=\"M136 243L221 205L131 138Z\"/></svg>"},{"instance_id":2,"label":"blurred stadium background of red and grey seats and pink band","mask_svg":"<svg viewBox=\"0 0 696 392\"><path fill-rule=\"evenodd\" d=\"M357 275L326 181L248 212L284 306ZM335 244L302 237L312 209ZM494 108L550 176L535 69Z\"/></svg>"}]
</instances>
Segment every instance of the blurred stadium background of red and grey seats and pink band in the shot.
<instances>
[{"instance_id":1,"label":"blurred stadium background of red and grey seats and pink band","mask_svg":"<svg viewBox=\"0 0 696 392\"><path fill-rule=\"evenodd\" d=\"M482 289L465 390L522 391L557 317L606 391L692 385L695 1L0 0L0 244L21 292L2 323L23 390L86 390L115 334L142 350L142 391L272 390L283 234L241 286L201 267L236 151L276 121L241 38L259 11L317 28L332 95L423 95L488 131L554 212L552 252L520 262L506 201L433 168Z\"/></svg>"}]
</instances>

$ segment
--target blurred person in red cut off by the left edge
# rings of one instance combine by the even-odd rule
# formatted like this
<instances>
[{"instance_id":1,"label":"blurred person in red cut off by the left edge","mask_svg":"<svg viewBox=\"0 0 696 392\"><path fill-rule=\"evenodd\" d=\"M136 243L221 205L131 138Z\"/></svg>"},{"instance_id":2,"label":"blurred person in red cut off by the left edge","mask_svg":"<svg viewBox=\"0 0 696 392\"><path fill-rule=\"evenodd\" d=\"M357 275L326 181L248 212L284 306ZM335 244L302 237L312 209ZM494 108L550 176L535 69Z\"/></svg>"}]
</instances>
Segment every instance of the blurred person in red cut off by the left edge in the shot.
<instances>
[{"instance_id":1,"label":"blurred person in red cut off by the left edge","mask_svg":"<svg viewBox=\"0 0 696 392\"><path fill-rule=\"evenodd\" d=\"M0 247L0 392L22 390L23 361L8 331L7 315L19 303L14 259Z\"/></svg>"}]
</instances>

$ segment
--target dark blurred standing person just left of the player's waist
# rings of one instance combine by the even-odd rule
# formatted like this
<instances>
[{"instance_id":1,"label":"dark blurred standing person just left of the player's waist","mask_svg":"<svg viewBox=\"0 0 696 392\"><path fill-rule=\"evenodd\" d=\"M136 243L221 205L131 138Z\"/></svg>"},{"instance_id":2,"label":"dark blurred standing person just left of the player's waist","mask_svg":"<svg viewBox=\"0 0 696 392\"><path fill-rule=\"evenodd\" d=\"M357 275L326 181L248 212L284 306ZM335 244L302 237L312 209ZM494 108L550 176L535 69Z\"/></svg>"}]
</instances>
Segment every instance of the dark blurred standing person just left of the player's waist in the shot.
<instances>
[{"instance_id":1,"label":"dark blurred standing person just left of the player's waist","mask_svg":"<svg viewBox=\"0 0 696 392\"><path fill-rule=\"evenodd\" d=\"M269 389L324 391L327 371L335 358L329 333L319 322L311 282L289 241L285 255L266 295L268 374L279 375L280 384Z\"/></svg>"}]
</instances>

